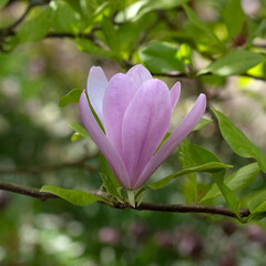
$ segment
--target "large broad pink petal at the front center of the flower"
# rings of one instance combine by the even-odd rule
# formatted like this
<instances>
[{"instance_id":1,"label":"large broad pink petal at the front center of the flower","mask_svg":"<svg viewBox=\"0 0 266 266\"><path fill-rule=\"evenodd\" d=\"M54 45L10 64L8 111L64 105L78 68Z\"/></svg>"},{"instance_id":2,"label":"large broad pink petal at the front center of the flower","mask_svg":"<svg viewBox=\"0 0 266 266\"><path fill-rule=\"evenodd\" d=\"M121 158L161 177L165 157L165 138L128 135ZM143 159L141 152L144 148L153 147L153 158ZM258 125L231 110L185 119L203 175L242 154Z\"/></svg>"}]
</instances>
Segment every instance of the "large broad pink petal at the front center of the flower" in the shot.
<instances>
[{"instance_id":1,"label":"large broad pink petal at the front center of the flower","mask_svg":"<svg viewBox=\"0 0 266 266\"><path fill-rule=\"evenodd\" d=\"M168 88L156 79L144 82L129 105L122 124L122 154L132 186L167 132L171 112Z\"/></svg>"}]
</instances>

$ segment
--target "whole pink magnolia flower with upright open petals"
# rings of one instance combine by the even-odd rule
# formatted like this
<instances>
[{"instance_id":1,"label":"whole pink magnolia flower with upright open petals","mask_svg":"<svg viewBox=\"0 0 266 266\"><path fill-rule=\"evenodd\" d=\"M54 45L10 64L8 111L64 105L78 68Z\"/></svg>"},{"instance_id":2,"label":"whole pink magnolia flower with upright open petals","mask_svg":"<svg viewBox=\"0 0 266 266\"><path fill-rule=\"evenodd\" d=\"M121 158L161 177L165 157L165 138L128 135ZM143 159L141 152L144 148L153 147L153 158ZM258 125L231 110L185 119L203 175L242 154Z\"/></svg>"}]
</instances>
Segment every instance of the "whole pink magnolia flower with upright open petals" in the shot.
<instances>
[{"instance_id":1,"label":"whole pink magnolia flower with upright open petals","mask_svg":"<svg viewBox=\"0 0 266 266\"><path fill-rule=\"evenodd\" d=\"M91 68L86 93L105 133L93 116L85 91L80 98L81 119L123 187L141 187L204 114L206 96L201 94L156 152L170 127L180 91L180 82L170 91L140 64L126 74L115 74L110 81L100 66Z\"/></svg>"}]
</instances>

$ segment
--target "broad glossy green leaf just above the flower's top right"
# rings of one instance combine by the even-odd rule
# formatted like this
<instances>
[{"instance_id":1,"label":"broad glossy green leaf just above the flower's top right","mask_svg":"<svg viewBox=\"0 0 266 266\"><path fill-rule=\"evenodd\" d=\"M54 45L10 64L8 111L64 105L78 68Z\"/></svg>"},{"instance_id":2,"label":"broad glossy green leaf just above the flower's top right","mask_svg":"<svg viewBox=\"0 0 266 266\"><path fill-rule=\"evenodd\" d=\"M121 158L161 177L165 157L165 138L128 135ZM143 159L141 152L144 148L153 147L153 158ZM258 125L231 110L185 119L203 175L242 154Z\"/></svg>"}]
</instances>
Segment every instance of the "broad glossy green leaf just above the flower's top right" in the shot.
<instances>
[{"instance_id":1,"label":"broad glossy green leaf just above the flower's top right","mask_svg":"<svg viewBox=\"0 0 266 266\"><path fill-rule=\"evenodd\" d=\"M141 49L140 58L155 73L183 71L184 63L177 58L177 47L168 42L152 42Z\"/></svg>"}]
</instances>

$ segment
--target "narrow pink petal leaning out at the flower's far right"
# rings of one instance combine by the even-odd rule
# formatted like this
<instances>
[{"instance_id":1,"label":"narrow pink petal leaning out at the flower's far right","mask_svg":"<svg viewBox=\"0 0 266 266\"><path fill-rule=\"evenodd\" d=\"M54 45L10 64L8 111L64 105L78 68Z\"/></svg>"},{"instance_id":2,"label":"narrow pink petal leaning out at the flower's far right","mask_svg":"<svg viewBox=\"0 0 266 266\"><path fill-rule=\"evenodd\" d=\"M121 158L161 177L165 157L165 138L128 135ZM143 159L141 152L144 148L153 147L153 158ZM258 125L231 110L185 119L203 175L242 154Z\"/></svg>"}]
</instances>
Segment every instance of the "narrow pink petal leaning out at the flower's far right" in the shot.
<instances>
[{"instance_id":1,"label":"narrow pink petal leaning out at the flower's far right","mask_svg":"<svg viewBox=\"0 0 266 266\"><path fill-rule=\"evenodd\" d=\"M140 178L134 185L134 190L142 186L143 183L154 173L154 171L163 163L164 160L176 149L176 146L190 134L196 126L206 109L206 96L201 94L190 113L182 120L180 125L174 130L172 135L165 141L160 150L154 154L141 173Z\"/></svg>"}]
</instances>

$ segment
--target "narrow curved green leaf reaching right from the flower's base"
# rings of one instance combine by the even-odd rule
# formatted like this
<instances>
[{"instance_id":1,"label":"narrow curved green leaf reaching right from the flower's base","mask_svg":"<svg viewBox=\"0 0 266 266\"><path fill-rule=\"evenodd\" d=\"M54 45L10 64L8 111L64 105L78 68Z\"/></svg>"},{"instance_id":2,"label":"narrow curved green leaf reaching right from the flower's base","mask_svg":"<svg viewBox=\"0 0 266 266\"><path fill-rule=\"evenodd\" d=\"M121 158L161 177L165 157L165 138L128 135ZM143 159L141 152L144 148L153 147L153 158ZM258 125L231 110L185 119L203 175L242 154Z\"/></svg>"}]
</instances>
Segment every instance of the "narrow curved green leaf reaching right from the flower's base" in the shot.
<instances>
[{"instance_id":1,"label":"narrow curved green leaf reaching right from the flower's base","mask_svg":"<svg viewBox=\"0 0 266 266\"><path fill-rule=\"evenodd\" d=\"M181 171L176 172L175 174L166 176L163 180L157 181L155 183L149 184L147 186L152 190L158 190L158 188L166 186L173 178L176 178L181 175L196 173L196 172L212 173L212 172L217 172L217 171L229 168L229 167L232 167L232 165L227 165L227 164L223 164L223 163L218 163L218 162L206 163L203 165L181 170Z\"/></svg>"}]
</instances>

